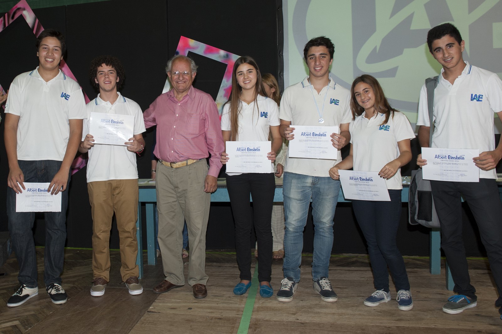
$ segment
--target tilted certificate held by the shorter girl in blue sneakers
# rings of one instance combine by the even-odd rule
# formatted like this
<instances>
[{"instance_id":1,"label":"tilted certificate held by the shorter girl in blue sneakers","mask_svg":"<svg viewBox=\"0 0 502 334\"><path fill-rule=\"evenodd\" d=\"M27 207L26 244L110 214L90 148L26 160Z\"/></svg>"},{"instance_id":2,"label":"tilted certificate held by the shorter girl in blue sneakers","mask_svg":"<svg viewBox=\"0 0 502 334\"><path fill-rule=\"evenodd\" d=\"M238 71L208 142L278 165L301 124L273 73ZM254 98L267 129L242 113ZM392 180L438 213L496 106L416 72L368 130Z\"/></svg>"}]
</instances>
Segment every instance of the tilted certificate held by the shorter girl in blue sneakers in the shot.
<instances>
[{"instance_id":1,"label":"tilted certificate held by the shorter girl in blue sneakers","mask_svg":"<svg viewBox=\"0 0 502 334\"><path fill-rule=\"evenodd\" d=\"M385 179L378 173L338 170L345 199L390 202Z\"/></svg>"}]
</instances>

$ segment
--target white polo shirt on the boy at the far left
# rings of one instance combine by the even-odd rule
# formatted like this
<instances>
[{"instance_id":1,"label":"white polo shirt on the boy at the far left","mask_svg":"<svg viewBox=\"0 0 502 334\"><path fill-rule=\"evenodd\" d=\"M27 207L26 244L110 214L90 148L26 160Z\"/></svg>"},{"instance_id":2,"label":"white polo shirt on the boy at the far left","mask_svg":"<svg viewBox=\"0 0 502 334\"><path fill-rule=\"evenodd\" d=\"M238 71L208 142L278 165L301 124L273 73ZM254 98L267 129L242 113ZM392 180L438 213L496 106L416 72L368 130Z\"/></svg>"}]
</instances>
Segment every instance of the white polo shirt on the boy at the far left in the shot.
<instances>
[{"instance_id":1,"label":"white polo shirt on the boy at the far left","mask_svg":"<svg viewBox=\"0 0 502 334\"><path fill-rule=\"evenodd\" d=\"M5 112L19 116L19 160L63 161L70 138L69 120L86 117L78 83L61 70L45 82L38 67L14 78Z\"/></svg>"}]
</instances>

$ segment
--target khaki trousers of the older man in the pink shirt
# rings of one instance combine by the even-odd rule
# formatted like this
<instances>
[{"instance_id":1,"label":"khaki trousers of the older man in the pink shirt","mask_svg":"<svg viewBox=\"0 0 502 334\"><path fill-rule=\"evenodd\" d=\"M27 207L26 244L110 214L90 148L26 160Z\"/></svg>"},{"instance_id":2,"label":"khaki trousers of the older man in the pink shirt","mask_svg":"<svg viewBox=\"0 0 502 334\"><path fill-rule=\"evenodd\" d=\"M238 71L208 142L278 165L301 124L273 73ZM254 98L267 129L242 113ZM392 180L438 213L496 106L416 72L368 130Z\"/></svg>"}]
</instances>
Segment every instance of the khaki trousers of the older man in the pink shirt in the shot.
<instances>
[{"instance_id":1,"label":"khaki trousers of the older man in the pink shirt","mask_svg":"<svg viewBox=\"0 0 502 334\"><path fill-rule=\"evenodd\" d=\"M183 225L187 222L190 263L188 284L206 284L206 229L211 194L204 192L206 159L188 166L171 168L157 164L157 209L159 247L166 279L184 285Z\"/></svg>"}]
</instances>

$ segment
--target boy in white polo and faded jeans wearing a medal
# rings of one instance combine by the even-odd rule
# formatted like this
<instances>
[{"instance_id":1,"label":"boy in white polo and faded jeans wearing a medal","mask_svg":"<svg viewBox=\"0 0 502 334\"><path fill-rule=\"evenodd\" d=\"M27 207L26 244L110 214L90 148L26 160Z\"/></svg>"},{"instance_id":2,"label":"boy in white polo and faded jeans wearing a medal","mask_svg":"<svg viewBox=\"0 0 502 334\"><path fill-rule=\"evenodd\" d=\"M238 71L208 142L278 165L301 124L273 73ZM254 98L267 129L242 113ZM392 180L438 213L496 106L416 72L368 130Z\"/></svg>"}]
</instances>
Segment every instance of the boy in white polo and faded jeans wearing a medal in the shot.
<instances>
[{"instance_id":1,"label":"boy in white polo and faded jeans wearing a medal","mask_svg":"<svg viewBox=\"0 0 502 334\"><path fill-rule=\"evenodd\" d=\"M300 281L303 229L307 224L310 199L314 219L314 254L312 278L314 290L324 301L336 301L336 293L328 279L329 259L333 247L333 217L335 215L340 181L329 177L329 169L341 160L340 148L350 140L348 125L350 92L329 77L334 45L326 37L311 39L303 50L309 76L285 89L281 99L281 135L294 140L294 125L340 126L333 134L337 160L292 158L286 160L284 172L284 279L277 292L279 301L291 301Z\"/></svg>"}]
</instances>

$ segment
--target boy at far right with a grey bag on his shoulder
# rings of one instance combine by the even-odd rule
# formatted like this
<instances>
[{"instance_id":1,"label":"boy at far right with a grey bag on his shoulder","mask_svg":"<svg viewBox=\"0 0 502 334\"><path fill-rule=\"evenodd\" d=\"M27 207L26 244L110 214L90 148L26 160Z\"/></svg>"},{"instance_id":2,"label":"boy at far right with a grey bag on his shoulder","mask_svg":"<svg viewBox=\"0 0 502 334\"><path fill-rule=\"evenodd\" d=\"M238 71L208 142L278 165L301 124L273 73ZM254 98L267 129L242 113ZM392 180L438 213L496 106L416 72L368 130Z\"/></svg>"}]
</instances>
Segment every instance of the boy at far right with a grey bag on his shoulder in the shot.
<instances>
[{"instance_id":1,"label":"boy at far right with a grey bag on his shoulder","mask_svg":"<svg viewBox=\"0 0 502 334\"><path fill-rule=\"evenodd\" d=\"M420 92L417 125L422 147L479 149L472 163L479 168L479 182L431 181L434 205L441 224L441 248L458 293L448 299L443 311L450 314L476 306L476 289L470 284L462 238L460 195L476 219L491 273L498 289L495 302L502 314L502 205L495 183L495 166L502 156L495 147L493 113L502 117L502 81L495 73L464 62L465 42L450 23L427 34L429 51L443 68L434 90L434 131L429 143L429 112L425 85ZM427 161L418 156L417 164Z\"/></svg>"}]
</instances>

